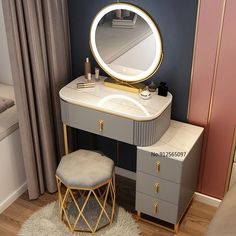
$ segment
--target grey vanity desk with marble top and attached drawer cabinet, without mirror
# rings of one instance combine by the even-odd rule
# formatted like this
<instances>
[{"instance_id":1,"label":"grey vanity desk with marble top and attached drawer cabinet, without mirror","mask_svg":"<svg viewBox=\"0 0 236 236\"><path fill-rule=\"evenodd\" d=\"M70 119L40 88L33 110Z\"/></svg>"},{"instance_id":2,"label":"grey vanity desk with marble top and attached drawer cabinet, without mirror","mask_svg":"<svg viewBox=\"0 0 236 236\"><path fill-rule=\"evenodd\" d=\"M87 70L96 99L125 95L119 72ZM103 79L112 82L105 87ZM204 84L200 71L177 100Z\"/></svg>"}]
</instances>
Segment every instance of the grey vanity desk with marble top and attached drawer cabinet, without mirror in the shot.
<instances>
[{"instance_id":1,"label":"grey vanity desk with marble top and attached drawer cabinet, without mirror","mask_svg":"<svg viewBox=\"0 0 236 236\"><path fill-rule=\"evenodd\" d=\"M172 95L138 94L103 85L77 89L81 76L60 91L61 116L71 126L137 146L136 210L179 221L196 190L203 129L170 120ZM65 147L68 152L67 139ZM128 158L128 157L127 157Z\"/></svg>"}]
</instances>

